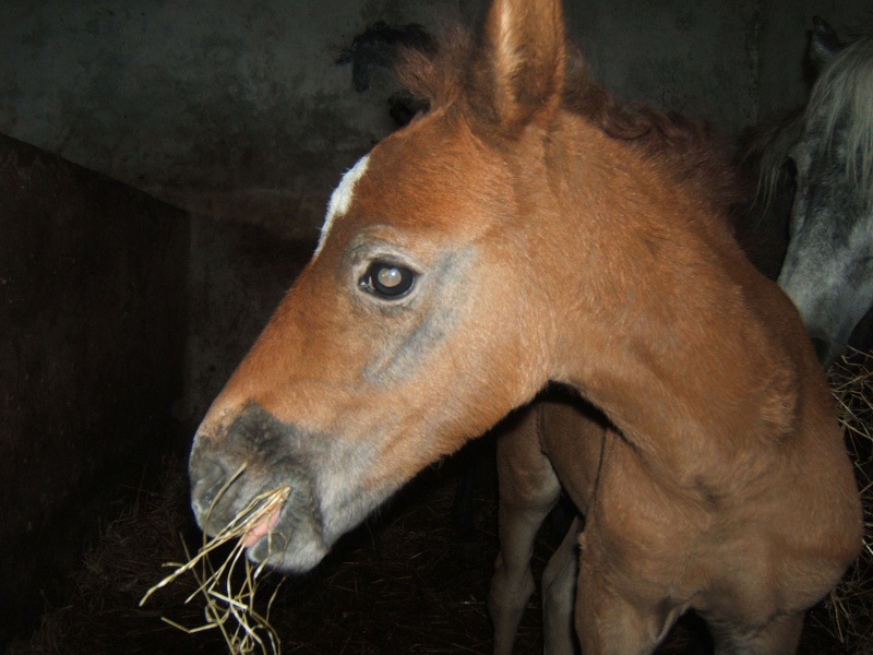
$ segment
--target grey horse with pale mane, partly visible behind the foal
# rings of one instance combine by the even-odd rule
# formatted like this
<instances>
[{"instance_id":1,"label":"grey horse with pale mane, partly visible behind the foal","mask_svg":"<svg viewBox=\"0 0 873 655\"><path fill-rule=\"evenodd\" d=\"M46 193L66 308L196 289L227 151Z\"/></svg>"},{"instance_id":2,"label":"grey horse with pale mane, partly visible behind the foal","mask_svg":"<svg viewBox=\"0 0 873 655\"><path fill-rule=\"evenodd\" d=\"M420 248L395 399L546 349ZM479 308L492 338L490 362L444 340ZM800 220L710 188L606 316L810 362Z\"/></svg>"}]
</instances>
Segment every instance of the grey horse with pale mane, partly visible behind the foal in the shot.
<instances>
[{"instance_id":1,"label":"grey horse with pale mane, partly visible behind the foal","mask_svg":"<svg viewBox=\"0 0 873 655\"><path fill-rule=\"evenodd\" d=\"M746 138L762 190L748 229L772 231L777 282L828 368L853 331L857 347L871 345L870 329L857 329L873 307L873 37L845 44L816 16L809 55L805 107Z\"/></svg>"}]
</instances>

